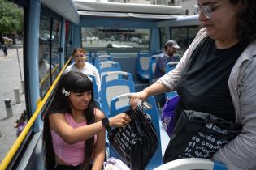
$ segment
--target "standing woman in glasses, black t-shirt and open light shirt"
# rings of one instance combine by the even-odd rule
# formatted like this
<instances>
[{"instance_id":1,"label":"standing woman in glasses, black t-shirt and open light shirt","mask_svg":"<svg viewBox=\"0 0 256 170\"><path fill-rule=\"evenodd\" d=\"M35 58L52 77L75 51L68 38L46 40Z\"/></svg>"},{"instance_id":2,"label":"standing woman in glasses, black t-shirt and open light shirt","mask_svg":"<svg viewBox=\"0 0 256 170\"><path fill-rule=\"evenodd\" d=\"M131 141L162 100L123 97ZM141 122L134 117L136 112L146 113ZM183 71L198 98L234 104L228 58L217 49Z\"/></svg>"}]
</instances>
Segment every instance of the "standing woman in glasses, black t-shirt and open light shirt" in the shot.
<instances>
[{"instance_id":1,"label":"standing woman in glasses, black t-shirt and open light shirt","mask_svg":"<svg viewBox=\"0 0 256 170\"><path fill-rule=\"evenodd\" d=\"M198 0L193 10L202 29L176 68L132 94L130 104L136 108L148 96L177 91L176 119L190 110L241 125L240 134L218 147L210 159L230 170L255 170L256 1Z\"/></svg>"}]
</instances>

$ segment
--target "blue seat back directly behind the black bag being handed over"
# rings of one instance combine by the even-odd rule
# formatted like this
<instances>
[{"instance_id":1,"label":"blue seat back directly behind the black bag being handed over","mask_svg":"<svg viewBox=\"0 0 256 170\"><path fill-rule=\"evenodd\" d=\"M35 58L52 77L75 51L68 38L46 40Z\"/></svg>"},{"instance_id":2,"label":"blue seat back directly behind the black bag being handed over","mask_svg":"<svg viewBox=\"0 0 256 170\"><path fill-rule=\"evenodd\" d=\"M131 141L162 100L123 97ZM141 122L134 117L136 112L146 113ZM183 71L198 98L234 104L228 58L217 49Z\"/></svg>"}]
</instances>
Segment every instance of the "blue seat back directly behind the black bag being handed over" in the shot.
<instances>
[{"instance_id":1,"label":"blue seat back directly behind the black bag being handed over","mask_svg":"<svg viewBox=\"0 0 256 170\"><path fill-rule=\"evenodd\" d=\"M129 96L130 93L126 93L120 96L117 96L111 100L111 113L109 117L113 117L117 115L118 113L124 113L124 111L128 110L130 108L129 104ZM153 96L148 97L145 100L145 103L147 105L150 105L150 108L145 108L144 112L147 113L153 122L154 128L156 130L157 136L158 136L158 148L155 151L153 157L151 158L149 164L147 165L146 169L151 170L153 168L158 167L159 165L163 164L162 159L162 151L161 151L161 139L160 139L160 128L159 128L159 117L158 117L158 108L155 104L155 100ZM115 157L119 159L119 155L113 150L113 148L110 145L110 157Z\"/></svg>"}]
</instances>

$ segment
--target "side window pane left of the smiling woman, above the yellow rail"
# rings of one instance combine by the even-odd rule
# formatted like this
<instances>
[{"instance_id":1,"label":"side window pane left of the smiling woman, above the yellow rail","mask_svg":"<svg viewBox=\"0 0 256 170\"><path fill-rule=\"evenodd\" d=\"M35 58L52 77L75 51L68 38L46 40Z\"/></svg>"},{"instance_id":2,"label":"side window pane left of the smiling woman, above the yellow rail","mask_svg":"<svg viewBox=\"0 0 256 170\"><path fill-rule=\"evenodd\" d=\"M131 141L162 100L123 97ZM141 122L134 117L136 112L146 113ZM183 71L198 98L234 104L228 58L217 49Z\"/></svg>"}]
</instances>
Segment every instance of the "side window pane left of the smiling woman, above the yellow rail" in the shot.
<instances>
[{"instance_id":1,"label":"side window pane left of the smiling woman, above the yellow rail","mask_svg":"<svg viewBox=\"0 0 256 170\"><path fill-rule=\"evenodd\" d=\"M39 86L43 98L60 71L61 19L42 10L39 26Z\"/></svg>"}]
</instances>

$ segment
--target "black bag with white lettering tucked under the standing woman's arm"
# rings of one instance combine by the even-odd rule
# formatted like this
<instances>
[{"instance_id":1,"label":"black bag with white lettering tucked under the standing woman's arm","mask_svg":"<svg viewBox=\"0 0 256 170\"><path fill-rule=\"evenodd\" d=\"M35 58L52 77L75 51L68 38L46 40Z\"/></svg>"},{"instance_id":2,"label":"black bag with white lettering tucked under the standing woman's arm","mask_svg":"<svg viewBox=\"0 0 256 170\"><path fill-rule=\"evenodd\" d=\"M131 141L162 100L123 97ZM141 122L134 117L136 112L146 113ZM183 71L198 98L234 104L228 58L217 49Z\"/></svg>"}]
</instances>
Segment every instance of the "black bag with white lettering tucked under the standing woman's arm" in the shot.
<instances>
[{"instance_id":1,"label":"black bag with white lettering tucked under the standing woman's arm","mask_svg":"<svg viewBox=\"0 0 256 170\"><path fill-rule=\"evenodd\" d=\"M183 110L163 162L180 158L210 158L241 132L241 125L209 113Z\"/></svg>"}]
</instances>

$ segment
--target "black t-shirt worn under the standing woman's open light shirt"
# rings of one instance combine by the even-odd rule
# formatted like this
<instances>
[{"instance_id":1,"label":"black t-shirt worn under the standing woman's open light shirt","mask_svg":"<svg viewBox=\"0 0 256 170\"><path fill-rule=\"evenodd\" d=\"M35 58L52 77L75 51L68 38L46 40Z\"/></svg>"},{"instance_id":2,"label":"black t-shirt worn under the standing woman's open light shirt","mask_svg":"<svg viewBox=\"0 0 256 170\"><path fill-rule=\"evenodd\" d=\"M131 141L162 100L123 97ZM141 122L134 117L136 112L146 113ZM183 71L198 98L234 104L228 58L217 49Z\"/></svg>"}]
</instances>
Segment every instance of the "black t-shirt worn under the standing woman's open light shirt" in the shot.
<instances>
[{"instance_id":1,"label":"black t-shirt worn under the standing woman's open light shirt","mask_svg":"<svg viewBox=\"0 0 256 170\"><path fill-rule=\"evenodd\" d=\"M180 96L177 112L195 110L236 121L228 78L245 47L237 43L228 49L216 49L215 40L210 37L202 40L177 83Z\"/></svg>"}]
</instances>

